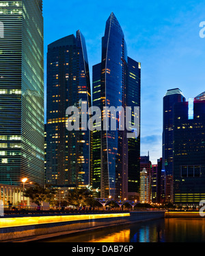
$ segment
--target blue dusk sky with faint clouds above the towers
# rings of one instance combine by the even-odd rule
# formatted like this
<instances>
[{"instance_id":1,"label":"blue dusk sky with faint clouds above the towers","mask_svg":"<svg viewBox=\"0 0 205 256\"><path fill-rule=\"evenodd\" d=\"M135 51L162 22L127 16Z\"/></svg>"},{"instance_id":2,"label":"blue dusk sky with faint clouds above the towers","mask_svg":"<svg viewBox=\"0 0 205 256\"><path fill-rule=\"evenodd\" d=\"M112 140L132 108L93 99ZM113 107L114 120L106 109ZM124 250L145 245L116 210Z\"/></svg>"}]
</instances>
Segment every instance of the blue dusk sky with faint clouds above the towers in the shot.
<instances>
[{"instance_id":1,"label":"blue dusk sky with faint clouds above the towers","mask_svg":"<svg viewBox=\"0 0 205 256\"><path fill-rule=\"evenodd\" d=\"M176 0L44 0L44 54L46 87L47 45L81 30L92 66L101 60L101 38L113 12L128 48L141 62L141 155L162 156L163 96L179 88L184 96L205 91L205 2Z\"/></svg>"}]
</instances>

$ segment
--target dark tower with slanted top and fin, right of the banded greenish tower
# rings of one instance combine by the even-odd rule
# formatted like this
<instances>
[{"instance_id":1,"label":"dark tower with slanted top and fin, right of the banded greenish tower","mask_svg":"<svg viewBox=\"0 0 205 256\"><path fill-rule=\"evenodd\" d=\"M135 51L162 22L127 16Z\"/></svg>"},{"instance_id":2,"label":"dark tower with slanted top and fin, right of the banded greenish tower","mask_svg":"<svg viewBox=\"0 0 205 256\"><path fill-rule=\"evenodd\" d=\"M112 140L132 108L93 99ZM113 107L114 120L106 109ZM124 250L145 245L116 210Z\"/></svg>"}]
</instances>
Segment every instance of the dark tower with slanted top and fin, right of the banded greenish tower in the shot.
<instances>
[{"instance_id":1,"label":"dark tower with slanted top and fin, right of the banded greenish tower","mask_svg":"<svg viewBox=\"0 0 205 256\"><path fill-rule=\"evenodd\" d=\"M86 124L90 104L87 50L78 30L77 36L66 36L48 46L46 182L53 186L80 188L90 184L91 135ZM67 129L69 106L79 108L79 130Z\"/></svg>"}]
</instances>

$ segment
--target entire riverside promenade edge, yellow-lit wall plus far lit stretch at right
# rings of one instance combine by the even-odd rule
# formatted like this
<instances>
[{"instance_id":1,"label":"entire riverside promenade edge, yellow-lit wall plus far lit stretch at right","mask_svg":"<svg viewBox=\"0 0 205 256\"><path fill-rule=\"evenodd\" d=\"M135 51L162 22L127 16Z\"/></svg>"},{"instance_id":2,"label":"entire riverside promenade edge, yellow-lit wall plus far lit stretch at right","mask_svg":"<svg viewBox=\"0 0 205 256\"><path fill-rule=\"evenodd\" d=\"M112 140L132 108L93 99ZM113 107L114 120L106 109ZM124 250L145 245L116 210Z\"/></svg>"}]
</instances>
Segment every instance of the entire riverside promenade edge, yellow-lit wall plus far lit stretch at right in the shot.
<instances>
[{"instance_id":1,"label":"entire riverside promenade edge, yellow-lit wall plus far lit stretch at right","mask_svg":"<svg viewBox=\"0 0 205 256\"><path fill-rule=\"evenodd\" d=\"M5 211L0 242L29 242L161 218L198 218L198 211ZM200 217L201 218L201 217Z\"/></svg>"}]
</instances>

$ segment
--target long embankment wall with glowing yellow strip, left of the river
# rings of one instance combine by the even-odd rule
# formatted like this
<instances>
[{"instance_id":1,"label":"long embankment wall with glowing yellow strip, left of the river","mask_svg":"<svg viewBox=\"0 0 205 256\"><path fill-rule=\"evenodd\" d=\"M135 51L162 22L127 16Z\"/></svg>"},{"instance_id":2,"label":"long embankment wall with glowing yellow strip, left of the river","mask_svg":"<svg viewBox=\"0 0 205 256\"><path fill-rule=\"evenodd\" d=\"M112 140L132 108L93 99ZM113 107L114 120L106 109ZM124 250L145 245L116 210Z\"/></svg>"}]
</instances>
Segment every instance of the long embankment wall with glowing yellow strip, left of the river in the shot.
<instances>
[{"instance_id":1,"label":"long embankment wall with glowing yellow strip, left of the river","mask_svg":"<svg viewBox=\"0 0 205 256\"><path fill-rule=\"evenodd\" d=\"M1 242L29 242L107 226L165 218L163 211L0 218Z\"/></svg>"}]
</instances>

